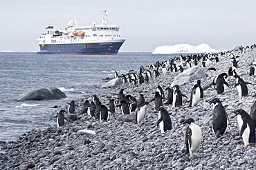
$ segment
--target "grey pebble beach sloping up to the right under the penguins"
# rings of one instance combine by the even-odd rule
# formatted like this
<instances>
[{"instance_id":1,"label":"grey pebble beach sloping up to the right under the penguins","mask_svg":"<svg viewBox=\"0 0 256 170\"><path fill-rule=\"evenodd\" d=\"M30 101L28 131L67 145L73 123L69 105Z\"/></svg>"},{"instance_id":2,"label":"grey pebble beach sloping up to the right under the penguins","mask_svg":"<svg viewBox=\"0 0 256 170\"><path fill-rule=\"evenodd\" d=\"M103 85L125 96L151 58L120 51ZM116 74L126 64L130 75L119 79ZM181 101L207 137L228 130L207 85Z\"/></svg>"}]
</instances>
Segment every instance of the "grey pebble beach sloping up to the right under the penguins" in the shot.
<instances>
[{"instance_id":1,"label":"grey pebble beach sloping up to the right under the penguins","mask_svg":"<svg viewBox=\"0 0 256 170\"><path fill-rule=\"evenodd\" d=\"M223 94L217 94L217 90L210 86L215 76L228 73L232 66L232 55L239 61L237 74L251 83L247 85L248 96L242 98L239 98L233 76L226 78L229 88ZM243 147L237 117L232 111L244 109L250 114L250 108L256 100L256 78L249 76L249 65L256 61L256 47L234 47L217 56L219 62L212 61L206 68L200 65L205 70L205 76L200 78L205 90L196 106L189 107L187 98L183 98L182 107L163 105L170 114L172 130L161 133L156 126L158 111L154 110L154 102L147 105L145 118L138 125L134 121L119 121L118 117L122 115L120 107L116 107L116 112L109 115L108 121L80 114L84 100L91 101L92 97L74 98L78 105L75 108L77 120L69 121L64 127L55 125L42 131L29 131L15 141L1 142L0 169L255 169L256 146ZM185 63L181 59L175 62L177 66ZM146 65L143 67L146 68ZM209 67L214 67L216 71L208 70ZM153 73L153 70L150 71ZM154 98L158 85L167 96L165 89L171 87L179 74L179 71L161 72L160 76L152 77L141 85L123 83L111 87L108 94L95 95L106 105L112 98L118 98L120 89L125 89L125 95L138 100L143 94L145 100L149 101ZM197 79L179 85L182 94L190 98ZM220 138L212 132L212 105L208 103L212 98L221 100L229 118L228 131ZM67 112L67 105L57 106L57 111L61 109ZM135 113L131 112L133 115ZM196 125L201 127L202 140L194 153L198 158L186 153L185 131L188 125L181 122L187 118L193 118ZM89 131L81 131L83 129Z\"/></svg>"}]
</instances>

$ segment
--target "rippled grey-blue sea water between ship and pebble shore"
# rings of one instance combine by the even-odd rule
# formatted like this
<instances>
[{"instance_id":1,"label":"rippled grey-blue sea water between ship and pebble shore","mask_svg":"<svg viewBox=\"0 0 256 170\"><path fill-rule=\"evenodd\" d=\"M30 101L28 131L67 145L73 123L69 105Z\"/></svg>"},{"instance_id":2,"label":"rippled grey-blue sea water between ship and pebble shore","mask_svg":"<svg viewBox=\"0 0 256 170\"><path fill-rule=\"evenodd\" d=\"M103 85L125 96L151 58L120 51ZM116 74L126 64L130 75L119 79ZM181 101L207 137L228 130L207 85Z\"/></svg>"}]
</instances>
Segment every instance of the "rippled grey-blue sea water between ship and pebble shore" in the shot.
<instances>
[{"instance_id":1,"label":"rippled grey-blue sea water between ship and pebble shore","mask_svg":"<svg viewBox=\"0 0 256 170\"><path fill-rule=\"evenodd\" d=\"M35 52L0 52L0 141L15 140L32 129L56 125L55 105L93 94L106 78L167 61L179 54L119 53L118 55L37 55ZM68 96L60 100L17 100L32 89L57 87ZM118 94L118 92L117 92ZM114 96L113 96L114 97Z\"/></svg>"}]
</instances>

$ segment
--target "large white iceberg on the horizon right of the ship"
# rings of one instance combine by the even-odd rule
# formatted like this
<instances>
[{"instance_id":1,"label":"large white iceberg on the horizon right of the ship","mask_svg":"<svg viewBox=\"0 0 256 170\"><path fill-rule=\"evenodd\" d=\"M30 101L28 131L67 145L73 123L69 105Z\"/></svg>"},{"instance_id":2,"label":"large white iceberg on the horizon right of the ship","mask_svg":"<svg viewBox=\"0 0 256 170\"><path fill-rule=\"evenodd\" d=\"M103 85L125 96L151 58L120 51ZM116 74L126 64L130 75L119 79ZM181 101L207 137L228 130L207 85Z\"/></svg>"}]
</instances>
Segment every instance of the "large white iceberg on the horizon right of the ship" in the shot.
<instances>
[{"instance_id":1,"label":"large white iceberg on the horizon right of the ship","mask_svg":"<svg viewBox=\"0 0 256 170\"><path fill-rule=\"evenodd\" d=\"M181 54L181 53L211 53L221 52L221 50L215 50L208 44L202 43L197 46L189 44L176 44L176 45L162 45L155 48L152 54Z\"/></svg>"}]
</instances>

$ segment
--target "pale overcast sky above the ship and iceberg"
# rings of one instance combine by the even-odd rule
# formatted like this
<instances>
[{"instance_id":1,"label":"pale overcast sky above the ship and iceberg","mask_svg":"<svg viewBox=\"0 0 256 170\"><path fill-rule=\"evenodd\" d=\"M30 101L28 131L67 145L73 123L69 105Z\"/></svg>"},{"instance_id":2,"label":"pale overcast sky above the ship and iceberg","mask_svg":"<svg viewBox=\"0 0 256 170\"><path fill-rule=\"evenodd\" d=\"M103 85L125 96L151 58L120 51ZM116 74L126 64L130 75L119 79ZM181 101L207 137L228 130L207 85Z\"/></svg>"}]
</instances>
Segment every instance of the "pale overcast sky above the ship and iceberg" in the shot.
<instances>
[{"instance_id":1,"label":"pale overcast sky above the ship and iceberg","mask_svg":"<svg viewBox=\"0 0 256 170\"><path fill-rule=\"evenodd\" d=\"M77 14L78 25L120 26L120 52L152 52L159 45L207 43L214 49L256 43L255 0L1 0L0 51L38 51L35 40L48 25L64 30Z\"/></svg>"}]
</instances>

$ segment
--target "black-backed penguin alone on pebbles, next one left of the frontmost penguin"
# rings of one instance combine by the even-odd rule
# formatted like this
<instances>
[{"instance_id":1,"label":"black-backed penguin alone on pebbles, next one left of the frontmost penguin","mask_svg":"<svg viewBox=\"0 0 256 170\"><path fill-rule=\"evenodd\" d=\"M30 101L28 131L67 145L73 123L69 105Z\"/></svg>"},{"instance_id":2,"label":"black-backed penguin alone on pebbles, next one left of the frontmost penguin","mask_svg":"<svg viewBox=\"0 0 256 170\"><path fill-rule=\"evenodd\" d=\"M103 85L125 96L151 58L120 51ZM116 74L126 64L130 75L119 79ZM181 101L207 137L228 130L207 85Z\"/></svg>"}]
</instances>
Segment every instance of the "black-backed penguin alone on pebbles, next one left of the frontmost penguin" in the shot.
<instances>
[{"instance_id":1,"label":"black-backed penguin alone on pebbles, next one left of the frontmost penguin","mask_svg":"<svg viewBox=\"0 0 256 170\"><path fill-rule=\"evenodd\" d=\"M159 110L156 125L157 127L160 127L161 133L164 133L165 131L172 129L172 120L165 108L160 107Z\"/></svg>"}]
</instances>

